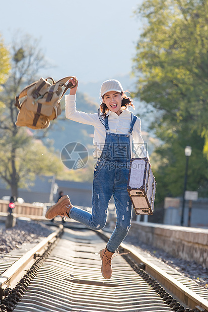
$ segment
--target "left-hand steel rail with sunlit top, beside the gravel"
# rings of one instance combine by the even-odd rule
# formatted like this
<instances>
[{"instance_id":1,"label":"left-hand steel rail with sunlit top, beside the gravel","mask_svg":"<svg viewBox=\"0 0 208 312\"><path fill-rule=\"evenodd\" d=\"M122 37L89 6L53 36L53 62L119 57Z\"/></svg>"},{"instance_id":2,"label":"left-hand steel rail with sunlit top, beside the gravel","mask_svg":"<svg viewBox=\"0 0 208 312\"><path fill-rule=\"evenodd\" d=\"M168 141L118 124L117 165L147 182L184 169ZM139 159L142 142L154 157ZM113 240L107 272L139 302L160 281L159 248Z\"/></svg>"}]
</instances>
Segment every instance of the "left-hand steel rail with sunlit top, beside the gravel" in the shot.
<instances>
[{"instance_id":1,"label":"left-hand steel rail with sunlit top, beside the gravel","mask_svg":"<svg viewBox=\"0 0 208 312\"><path fill-rule=\"evenodd\" d=\"M0 276L0 293L5 286L11 286L12 283L16 283L20 276L25 273L26 268L30 267L35 259L44 253L46 246L53 243L61 231L63 231L62 224L59 225L56 231L26 252Z\"/></svg>"}]
</instances>

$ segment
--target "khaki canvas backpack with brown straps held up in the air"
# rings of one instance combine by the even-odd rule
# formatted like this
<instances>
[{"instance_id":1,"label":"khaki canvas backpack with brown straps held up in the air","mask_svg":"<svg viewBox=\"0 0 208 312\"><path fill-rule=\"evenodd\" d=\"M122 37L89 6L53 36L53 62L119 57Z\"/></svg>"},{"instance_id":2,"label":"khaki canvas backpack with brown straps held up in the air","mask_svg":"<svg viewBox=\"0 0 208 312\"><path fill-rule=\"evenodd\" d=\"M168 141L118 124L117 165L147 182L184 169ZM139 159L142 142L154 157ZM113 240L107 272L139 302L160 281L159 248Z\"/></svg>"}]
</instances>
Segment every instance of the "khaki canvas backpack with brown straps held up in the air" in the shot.
<instances>
[{"instance_id":1,"label":"khaki canvas backpack with brown straps held up in the air","mask_svg":"<svg viewBox=\"0 0 208 312\"><path fill-rule=\"evenodd\" d=\"M27 126L32 129L44 129L50 121L61 114L60 99L68 88L75 86L70 82L65 83L73 76L64 77L55 82L51 77L41 78L39 81L25 87L15 97L15 106L18 107L17 126ZM52 85L47 80L52 81ZM64 90L62 88L65 87ZM19 99L23 101L20 103Z\"/></svg>"}]
</instances>

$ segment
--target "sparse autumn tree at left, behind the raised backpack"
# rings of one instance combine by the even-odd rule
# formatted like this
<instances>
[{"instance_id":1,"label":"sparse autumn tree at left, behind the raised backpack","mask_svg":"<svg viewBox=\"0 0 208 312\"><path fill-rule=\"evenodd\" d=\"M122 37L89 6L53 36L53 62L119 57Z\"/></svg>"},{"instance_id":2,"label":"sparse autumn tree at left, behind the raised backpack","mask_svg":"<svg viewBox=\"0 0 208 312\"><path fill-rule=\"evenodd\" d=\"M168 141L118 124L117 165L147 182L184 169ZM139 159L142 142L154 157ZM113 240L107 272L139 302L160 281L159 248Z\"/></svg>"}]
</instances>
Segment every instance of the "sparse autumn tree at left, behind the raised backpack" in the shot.
<instances>
[{"instance_id":1,"label":"sparse autumn tree at left, behind the raised backpack","mask_svg":"<svg viewBox=\"0 0 208 312\"><path fill-rule=\"evenodd\" d=\"M18 39L11 48L12 69L4 84L0 101L0 177L10 186L11 195L18 197L18 188L26 187L36 175L56 174L60 160L37 137L44 131L30 131L17 127L18 110L15 96L35 81L36 74L45 67L45 60L37 41L29 36Z\"/></svg>"}]
</instances>

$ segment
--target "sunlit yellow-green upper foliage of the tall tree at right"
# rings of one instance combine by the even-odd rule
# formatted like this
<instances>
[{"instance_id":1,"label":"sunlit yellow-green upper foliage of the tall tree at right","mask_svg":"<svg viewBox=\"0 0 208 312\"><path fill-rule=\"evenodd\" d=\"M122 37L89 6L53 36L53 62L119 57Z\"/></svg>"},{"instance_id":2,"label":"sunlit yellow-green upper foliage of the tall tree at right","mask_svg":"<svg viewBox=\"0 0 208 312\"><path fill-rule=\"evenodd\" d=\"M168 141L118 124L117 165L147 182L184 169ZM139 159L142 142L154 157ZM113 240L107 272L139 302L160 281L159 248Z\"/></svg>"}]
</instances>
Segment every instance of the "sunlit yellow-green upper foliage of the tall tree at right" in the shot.
<instances>
[{"instance_id":1,"label":"sunlit yellow-green upper foliage of the tall tree at right","mask_svg":"<svg viewBox=\"0 0 208 312\"><path fill-rule=\"evenodd\" d=\"M158 126L188 121L208 139L208 3L202 0L148 0L137 14L147 26L136 46L137 93L160 111ZM142 74L141 74L142 73ZM171 124L170 124L171 121ZM207 153L208 155L208 153Z\"/></svg>"}]
</instances>

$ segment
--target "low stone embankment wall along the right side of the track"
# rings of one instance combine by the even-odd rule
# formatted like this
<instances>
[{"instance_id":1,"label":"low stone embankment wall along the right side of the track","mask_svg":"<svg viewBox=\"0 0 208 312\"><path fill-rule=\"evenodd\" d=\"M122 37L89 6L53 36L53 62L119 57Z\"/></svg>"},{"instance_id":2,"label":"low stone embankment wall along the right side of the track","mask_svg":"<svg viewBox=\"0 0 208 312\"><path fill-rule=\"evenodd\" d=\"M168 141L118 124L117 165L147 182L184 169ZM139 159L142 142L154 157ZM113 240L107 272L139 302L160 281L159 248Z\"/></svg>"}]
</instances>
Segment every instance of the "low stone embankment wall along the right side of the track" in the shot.
<instances>
[{"instance_id":1,"label":"low stone embankment wall along the right side of the track","mask_svg":"<svg viewBox=\"0 0 208 312\"><path fill-rule=\"evenodd\" d=\"M208 229L132 221L128 236L173 257L208 267Z\"/></svg>"}]
</instances>

